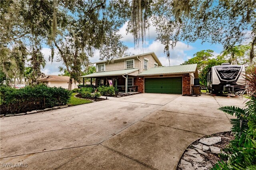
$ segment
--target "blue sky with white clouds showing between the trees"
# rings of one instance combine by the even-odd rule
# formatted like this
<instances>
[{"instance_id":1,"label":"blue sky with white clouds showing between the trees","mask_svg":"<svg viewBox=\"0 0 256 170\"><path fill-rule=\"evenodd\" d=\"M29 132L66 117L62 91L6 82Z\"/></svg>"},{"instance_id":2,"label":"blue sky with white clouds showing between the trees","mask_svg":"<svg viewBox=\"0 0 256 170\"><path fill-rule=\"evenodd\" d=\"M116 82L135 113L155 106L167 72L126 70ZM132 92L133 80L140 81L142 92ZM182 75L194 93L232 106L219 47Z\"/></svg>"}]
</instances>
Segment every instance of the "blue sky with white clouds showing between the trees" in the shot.
<instances>
[{"instance_id":1,"label":"blue sky with white clouds showing between the trees","mask_svg":"<svg viewBox=\"0 0 256 170\"><path fill-rule=\"evenodd\" d=\"M134 48L134 39L133 36L129 33L126 35L126 26L127 22L123 25L123 27L120 28L119 33L122 35L122 41L124 42L124 45L128 46L128 53L134 53L142 54L142 53L148 53L148 52L154 52L156 53L156 56L159 58L160 62L164 66L169 66L169 61L166 57L166 54L164 54L164 45L162 45L160 42L154 41L157 37L157 33L155 31L155 28L153 26L150 26L149 29L149 36L146 35L146 43L143 45L144 48L142 48L142 45L140 45L139 48ZM149 38L148 38L149 37ZM203 43L202 41L198 40L194 43L187 43L187 42L177 42L176 47L171 50L170 49L170 65L179 65L182 64L184 61L187 61L188 59L192 58L194 53L201 51L201 50L207 50L211 49L214 51L214 55L219 55L223 51L223 47L220 44L210 44L210 43ZM48 59L48 56L50 55L50 49L48 47L44 47L42 49L42 52L45 55L45 58ZM90 61L97 62L99 61L99 51L94 52L94 57L90 58ZM58 71L58 67L65 66L61 62L56 62L56 57L54 59L54 62L47 62L45 68L42 70L44 74L52 74L52 75L58 75L60 72Z\"/></svg>"}]
</instances>

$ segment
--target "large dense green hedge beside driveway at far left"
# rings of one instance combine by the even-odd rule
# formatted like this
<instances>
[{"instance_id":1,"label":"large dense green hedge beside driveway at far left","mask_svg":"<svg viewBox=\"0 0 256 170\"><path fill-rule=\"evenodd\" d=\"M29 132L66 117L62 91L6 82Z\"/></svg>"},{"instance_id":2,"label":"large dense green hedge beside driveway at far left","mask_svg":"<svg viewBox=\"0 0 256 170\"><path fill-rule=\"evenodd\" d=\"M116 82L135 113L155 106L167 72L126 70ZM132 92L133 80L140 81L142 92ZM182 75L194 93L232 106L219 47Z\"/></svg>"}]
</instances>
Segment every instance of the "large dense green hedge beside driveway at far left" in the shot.
<instances>
[{"instance_id":1,"label":"large dense green hedge beside driveway at far left","mask_svg":"<svg viewBox=\"0 0 256 170\"><path fill-rule=\"evenodd\" d=\"M0 97L1 112L6 114L67 104L71 92L64 88L50 88L45 84L20 89L1 86Z\"/></svg>"}]
</instances>

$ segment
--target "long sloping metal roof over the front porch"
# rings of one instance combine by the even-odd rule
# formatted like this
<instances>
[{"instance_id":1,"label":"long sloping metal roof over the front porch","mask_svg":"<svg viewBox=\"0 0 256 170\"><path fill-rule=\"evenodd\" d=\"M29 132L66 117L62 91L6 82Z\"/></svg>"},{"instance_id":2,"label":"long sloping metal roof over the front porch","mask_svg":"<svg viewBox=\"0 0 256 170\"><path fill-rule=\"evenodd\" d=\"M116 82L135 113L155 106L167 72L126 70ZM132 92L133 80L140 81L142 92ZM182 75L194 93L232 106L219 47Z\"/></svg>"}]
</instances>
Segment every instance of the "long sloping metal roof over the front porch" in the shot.
<instances>
[{"instance_id":1,"label":"long sloping metal roof over the front porch","mask_svg":"<svg viewBox=\"0 0 256 170\"><path fill-rule=\"evenodd\" d=\"M114 70L114 71L103 71L103 72L95 72L95 73L88 74L88 75L81 76L81 77L90 78L90 77L103 77L103 76L121 76L121 75L130 74L137 70L139 70L139 68L125 69L125 70Z\"/></svg>"}]
</instances>

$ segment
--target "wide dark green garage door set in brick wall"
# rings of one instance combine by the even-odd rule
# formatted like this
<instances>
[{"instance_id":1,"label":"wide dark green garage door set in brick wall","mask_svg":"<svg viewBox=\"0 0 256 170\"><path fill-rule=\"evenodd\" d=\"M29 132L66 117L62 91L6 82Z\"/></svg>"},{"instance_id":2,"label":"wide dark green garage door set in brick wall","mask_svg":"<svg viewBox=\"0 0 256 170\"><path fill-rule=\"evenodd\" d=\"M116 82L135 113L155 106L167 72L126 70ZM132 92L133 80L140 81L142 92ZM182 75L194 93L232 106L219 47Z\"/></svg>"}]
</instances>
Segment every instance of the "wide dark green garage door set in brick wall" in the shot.
<instances>
[{"instance_id":1,"label":"wide dark green garage door set in brick wall","mask_svg":"<svg viewBox=\"0 0 256 170\"><path fill-rule=\"evenodd\" d=\"M146 93L182 94L182 77L145 78Z\"/></svg>"}]
</instances>

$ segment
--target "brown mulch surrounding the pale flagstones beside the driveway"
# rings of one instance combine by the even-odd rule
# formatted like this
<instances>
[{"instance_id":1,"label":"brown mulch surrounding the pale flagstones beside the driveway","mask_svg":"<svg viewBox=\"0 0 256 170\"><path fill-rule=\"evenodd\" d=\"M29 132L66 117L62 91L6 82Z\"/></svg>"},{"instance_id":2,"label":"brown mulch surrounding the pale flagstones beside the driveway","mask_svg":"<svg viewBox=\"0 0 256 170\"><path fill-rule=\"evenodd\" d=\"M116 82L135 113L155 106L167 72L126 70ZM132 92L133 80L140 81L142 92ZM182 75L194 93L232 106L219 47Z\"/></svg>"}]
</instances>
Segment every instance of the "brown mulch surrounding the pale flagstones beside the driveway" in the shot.
<instances>
[{"instance_id":1,"label":"brown mulch surrounding the pale flagstones beside the driveway","mask_svg":"<svg viewBox=\"0 0 256 170\"><path fill-rule=\"evenodd\" d=\"M221 142L212 145L212 146L218 147L220 149L225 149L227 147L227 145L230 143L230 141L232 141L234 139L234 135L232 134L231 131L229 131L229 132L222 132L222 133L215 133L215 134L212 134L212 135L206 135L206 136L204 136L202 138L208 138L208 137L221 137L222 138ZM193 149L194 147L192 145L199 144L199 142L198 142L199 140L200 139L198 139L197 141L192 143L188 147L188 149ZM212 168L216 163L218 163L218 161L221 161L221 160L223 160L224 162L227 161L227 158L220 157L219 154L212 153L212 152L210 152L210 150L209 151L204 151L204 152L207 153L207 156L201 154L201 156L204 158L203 162L200 162L200 163L193 162L193 161L188 161L188 162L190 162L192 164L198 164L201 169L204 169L206 167ZM184 157L184 154L182 155L181 159L183 157ZM182 168L180 168L180 162L178 163L177 170L182 170Z\"/></svg>"}]
</instances>

